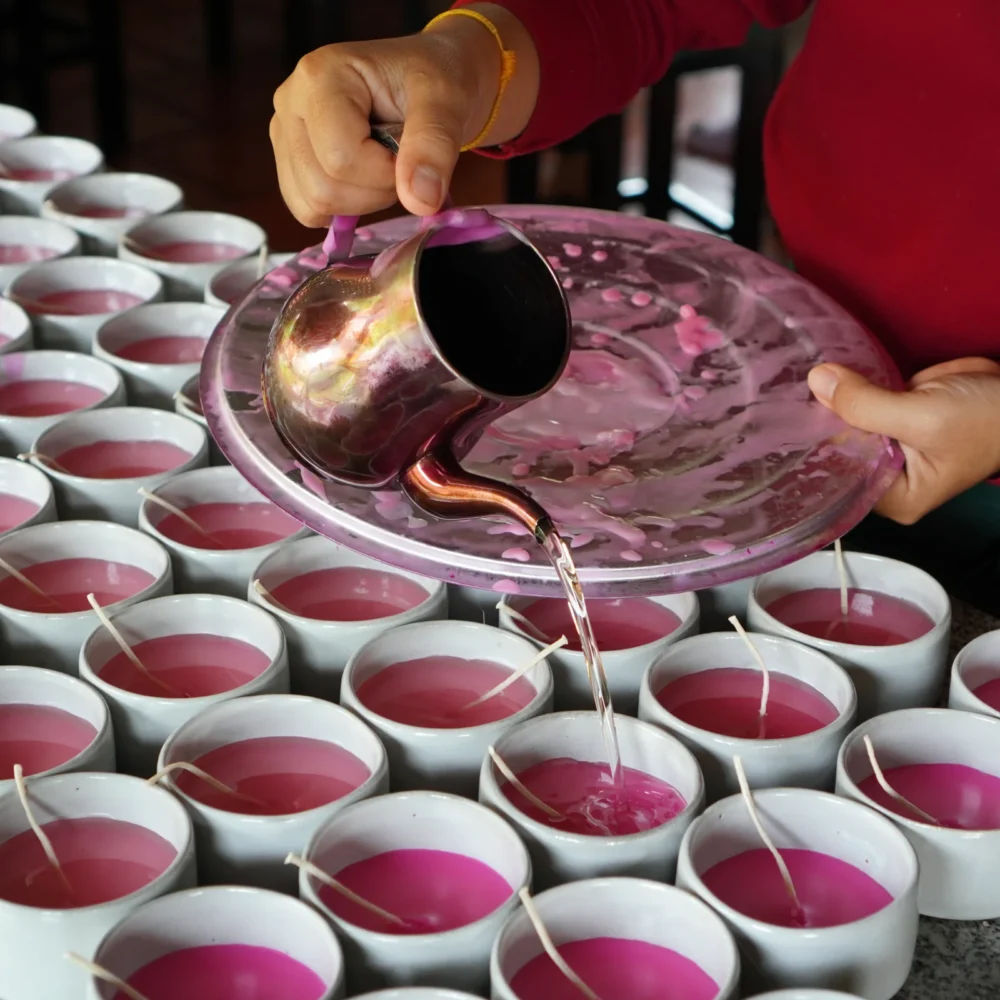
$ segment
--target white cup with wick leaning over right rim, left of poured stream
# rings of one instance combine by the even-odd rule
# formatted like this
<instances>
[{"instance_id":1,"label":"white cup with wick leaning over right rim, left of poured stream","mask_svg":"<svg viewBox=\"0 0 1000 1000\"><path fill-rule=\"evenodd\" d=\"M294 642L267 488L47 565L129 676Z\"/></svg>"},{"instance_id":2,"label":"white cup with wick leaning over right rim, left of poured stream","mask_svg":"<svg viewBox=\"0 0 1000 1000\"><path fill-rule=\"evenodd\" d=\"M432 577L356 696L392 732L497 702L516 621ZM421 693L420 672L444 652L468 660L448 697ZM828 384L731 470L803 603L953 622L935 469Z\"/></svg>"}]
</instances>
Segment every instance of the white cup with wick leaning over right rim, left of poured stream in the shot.
<instances>
[{"instance_id":1,"label":"white cup with wick leaning over right rim, left of poured stream","mask_svg":"<svg viewBox=\"0 0 1000 1000\"><path fill-rule=\"evenodd\" d=\"M386 667L425 656L490 660L514 673L537 652L526 639L491 625L452 621L400 625L376 636L351 657L341 680L340 702L360 715L385 744L393 788L430 788L475 797L487 748L518 723L552 710L552 673L547 659L523 675L535 689L524 708L479 726L432 729L395 722L364 704L358 691Z\"/></svg>"}]
</instances>

